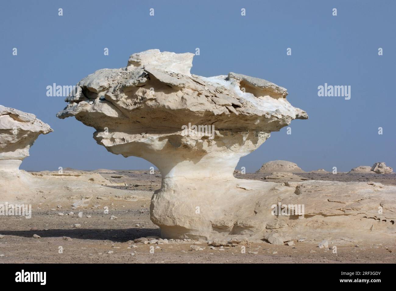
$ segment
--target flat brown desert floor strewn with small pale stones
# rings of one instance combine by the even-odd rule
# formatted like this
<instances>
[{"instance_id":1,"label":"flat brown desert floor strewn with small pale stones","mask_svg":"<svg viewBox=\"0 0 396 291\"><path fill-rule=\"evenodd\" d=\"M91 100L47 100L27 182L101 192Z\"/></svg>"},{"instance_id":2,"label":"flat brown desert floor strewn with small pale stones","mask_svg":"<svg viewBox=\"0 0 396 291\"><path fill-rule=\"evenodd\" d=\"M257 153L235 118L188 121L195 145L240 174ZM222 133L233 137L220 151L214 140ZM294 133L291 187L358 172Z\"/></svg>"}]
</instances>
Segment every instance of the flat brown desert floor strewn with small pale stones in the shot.
<instances>
[{"instance_id":1,"label":"flat brown desert floor strewn with small pale stones","mask_svg":"<svg viewBox=\"0 0 396 291\"><path fill-rule=\"evenodd\" d=\"M169 241L164 244L133 243L140 237L159 237L160 229L150 221L152 191L160 188L158 171L102 171L103 177L136 190L136 197L120 198L111 193L89 200L87 206L72 207L72 197L56 203L32 204L32 218L2 216L1 263L395 263L396 242L376 244L337 242L337 253L318 248L319 241L307 238L293 246L267 242L244 243L234 247L211 247L207 242ZM396 175L299 174L310 179L375 181L396 184ZM236 174L238 178L262 179L264 174ZM282 181L279 181L282 183ZM105 214L103 207L109 207ZM70 211L73 215L68 215ZM82 211L83 216L78 217ZM64 213L59 216L58 213ZM91 217L87 217L87 215ZM114 215L116 219L110 219ZM80 224L80 227L74 227ZM41 238L33 238L37 234ZM65 238L64 238L65 237ZM191 250L191 245L203 250ZM333 244L329 240L329 246ZM246 253L242 253L242 246ZM59 250L63 249L63 252ZM151 251L151 252L150 252ZM154 253L152 253L154 251Z\"/></svg>"}]
</instances>

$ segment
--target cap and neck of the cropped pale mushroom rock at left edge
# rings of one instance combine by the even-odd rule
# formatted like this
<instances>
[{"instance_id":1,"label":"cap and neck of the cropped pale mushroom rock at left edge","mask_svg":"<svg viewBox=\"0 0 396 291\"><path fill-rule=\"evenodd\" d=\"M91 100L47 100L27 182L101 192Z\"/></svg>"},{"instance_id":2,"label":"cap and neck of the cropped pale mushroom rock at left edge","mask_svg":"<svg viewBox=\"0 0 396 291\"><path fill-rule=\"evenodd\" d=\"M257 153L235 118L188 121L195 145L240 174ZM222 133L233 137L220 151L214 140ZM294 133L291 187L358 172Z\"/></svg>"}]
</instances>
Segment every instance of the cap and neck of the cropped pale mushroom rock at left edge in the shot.
<instances>
[{"instance_id":1,"label":"cap and neck of the cropped pale mushroom rock at left edge","mask_svg":"<svg viewBox=\"0 0 396 291\"><path fill-rule=\"evenodd\" d=\"M40 134L52 131L34 114L0 105L0 171L19 175L19 165L29 156L30 146Z\"/></svg>"}]
</instances>

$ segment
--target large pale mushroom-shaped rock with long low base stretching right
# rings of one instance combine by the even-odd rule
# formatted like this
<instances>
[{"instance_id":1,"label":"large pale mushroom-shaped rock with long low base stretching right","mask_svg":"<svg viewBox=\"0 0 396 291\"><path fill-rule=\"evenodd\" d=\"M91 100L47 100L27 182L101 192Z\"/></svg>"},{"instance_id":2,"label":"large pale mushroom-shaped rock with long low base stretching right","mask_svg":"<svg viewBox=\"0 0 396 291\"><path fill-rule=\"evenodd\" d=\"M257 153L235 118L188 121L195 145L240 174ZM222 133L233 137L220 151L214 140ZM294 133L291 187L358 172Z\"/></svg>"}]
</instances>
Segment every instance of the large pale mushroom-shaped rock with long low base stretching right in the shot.
<instances>
[{"instance_id":1,"label":"large pale mushroom-shaped rock with long low base stretching right","mask_svg":"<svg viewBox=\"0 0 396 291\"><path fill-rule=\"evenodd\" d=\"M150 217L163 238L254 240L281 230L297 235L303 229L312 230L312 236L321 234L320 226L337 220L321 213L343 212L337 209L344 204L336 202L338 196L348 195L343 184L328 193L338 195L335 202L327 197L315 200L310 214L316 216L307 225L305 219L273 215L272 205L297 198L309 202L312 193L321 193L312 183L335 182L279 184L233 176L239 159L258 148L271 131L293 119L307 119L307 113L290 105L285 88L268 81L234 73L209 78L190 74L192 57L158 49L135 53L127 67L97 70L78 82L76 94L66 99L69 105L57 116L74 116L94 127L94 139L108 151L141 157L158 167L162 184L152 196ZM360 186L361 193L368 197L371 191L384 203L396 189L389 187ZM349 188L356 191L355 185ZM359 209L363 202L344 200L344 214L356 215L356 223L375 216ZM377 200L367 199L371 204L364 209L378 210ZM348 218L342 223L350 231Z\"/></svg>"}]
</instances>

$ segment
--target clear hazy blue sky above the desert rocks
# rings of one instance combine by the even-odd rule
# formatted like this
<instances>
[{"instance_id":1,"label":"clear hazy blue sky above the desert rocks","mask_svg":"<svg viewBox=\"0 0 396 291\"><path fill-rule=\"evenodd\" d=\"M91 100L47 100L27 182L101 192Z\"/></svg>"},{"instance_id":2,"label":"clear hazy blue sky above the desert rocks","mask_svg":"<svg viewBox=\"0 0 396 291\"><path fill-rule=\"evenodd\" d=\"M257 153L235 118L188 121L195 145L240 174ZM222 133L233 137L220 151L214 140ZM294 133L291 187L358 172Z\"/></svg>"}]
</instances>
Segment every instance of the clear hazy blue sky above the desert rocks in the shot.
<instances>
[{"instance_id":1,"label":"clear hazy blue sky above the desert rocks","mask_svg":"<svg viewBox=\"0 0 396 291\"><path fill-rule=\"evenodd\" d=\"M266 79L286 87L289 102L309 115L291 123L291 135L286 128L272 133L237 168L251 172L270 160L289 160L305 171L349 171L375 162L396 168L395 11L394 0L4 0L0 104L33 113L54 129L37 139L22 169L148 169L151 164L141 158L97 145L95 129L56 118L67 103L47 97L46 87L74 85L100 68L125 67L135 52L200 48L193 74ZM319 97L318 86L325 83L351 86L350 100Z\"/></svg>"}]
</instances>

